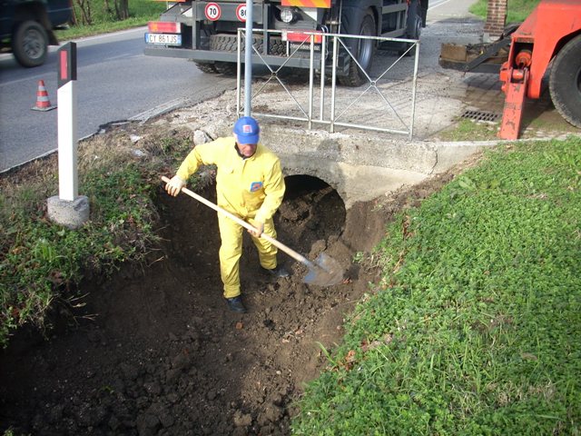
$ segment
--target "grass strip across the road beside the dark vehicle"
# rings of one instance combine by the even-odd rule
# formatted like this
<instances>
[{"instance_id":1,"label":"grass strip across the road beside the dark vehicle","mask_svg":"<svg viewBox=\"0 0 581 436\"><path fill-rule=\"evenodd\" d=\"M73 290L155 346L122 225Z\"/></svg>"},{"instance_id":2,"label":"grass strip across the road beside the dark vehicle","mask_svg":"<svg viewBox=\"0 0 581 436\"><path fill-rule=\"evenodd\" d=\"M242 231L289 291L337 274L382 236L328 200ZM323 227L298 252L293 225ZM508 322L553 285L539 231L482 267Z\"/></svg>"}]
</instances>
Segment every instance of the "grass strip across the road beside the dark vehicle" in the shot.
<instances>
[{"instance_id":1,"label":"grass strip across the road beside the dark vehicle","mask_svg":"<svg viewBox=\"0 0 581 436\"><path fill-rule=\"evenodd\" d=\"M110 2L113 4L113 2ZM140 0L129 2L129 18L123 21L115 19L112 12L107 12L104 8L103 0L92 0L92 18L91 25L71 25L65 30L57 30L56 37L59 41L67 41L84 36L101 35L118 30L129 29L147 25L147 22L156 20L165 10L164 2L153 2L153 0ZM74 2L76 16L82 16L78 5Z\"/></svg>"}]
</instances>

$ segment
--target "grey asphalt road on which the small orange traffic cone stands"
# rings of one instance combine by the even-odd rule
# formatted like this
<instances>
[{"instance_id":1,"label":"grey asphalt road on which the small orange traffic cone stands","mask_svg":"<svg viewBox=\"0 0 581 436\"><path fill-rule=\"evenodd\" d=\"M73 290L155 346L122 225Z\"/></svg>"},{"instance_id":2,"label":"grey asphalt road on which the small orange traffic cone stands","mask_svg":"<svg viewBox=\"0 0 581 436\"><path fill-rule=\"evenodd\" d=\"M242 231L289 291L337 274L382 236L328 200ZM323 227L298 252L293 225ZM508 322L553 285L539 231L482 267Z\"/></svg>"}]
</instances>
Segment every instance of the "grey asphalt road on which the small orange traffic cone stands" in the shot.
<instances>
[{"instance_id":1,"label":"grey asphalt road on which the small orange traffic cone stands","mask_svg":"<svg viewBox=\"0 0 581 436\"><path fill-rule=\"evenodd\" d=\"M103 124L193 104L235 87L235 78L202 74L183 59L143 54L145 28L94 36L77 43L79 139ZM0 172L57 148L57 113L36 112L38 81L58 105L56 50L36 68L0 54Z\"/></svg>"}]
</instances>

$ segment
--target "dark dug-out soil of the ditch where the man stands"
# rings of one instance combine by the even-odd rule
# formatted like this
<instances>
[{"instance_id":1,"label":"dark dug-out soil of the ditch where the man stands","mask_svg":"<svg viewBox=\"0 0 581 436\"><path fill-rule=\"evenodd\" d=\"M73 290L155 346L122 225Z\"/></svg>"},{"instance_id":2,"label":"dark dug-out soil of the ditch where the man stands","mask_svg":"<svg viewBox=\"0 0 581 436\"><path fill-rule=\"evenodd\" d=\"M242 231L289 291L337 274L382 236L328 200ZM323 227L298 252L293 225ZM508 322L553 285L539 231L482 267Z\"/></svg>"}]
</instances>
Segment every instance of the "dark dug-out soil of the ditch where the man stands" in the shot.
<instances>
[{"instance_id":1,"label":"dark dug-out soil of the ditch where the man stands","mask_svg":"<svg viewBox=\"0 0 581 436\"><path fill-rule=\"evenodd\" d=\"M310 259L329 254L345 281L309 286L306 268L284 253L279 261L291 278L272 280L245 236L246 314L229 312L222 298L215 213L160 192L163 243L149 262L123 265L107 281L87 279L84 307L56 304L48 338L22 330L0 355L0 431L289 434L293 401L327 364L318 343L340 342L344 315L375 281L371 268L351 263L353 254L379 242L393 213L450 178L346 213L326 183L288 177L278 239ZM215 198L213 187L203 194Z\"/></svg>"}]
</instances>

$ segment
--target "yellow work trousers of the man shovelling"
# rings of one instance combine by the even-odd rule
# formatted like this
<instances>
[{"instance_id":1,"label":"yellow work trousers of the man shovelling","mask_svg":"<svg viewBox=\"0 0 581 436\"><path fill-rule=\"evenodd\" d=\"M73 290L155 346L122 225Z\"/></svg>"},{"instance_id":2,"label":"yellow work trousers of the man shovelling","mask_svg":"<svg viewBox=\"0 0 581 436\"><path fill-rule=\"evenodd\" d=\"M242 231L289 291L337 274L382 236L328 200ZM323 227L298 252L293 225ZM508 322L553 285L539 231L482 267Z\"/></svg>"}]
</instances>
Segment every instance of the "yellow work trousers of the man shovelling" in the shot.
<instances>
[{"instance_id":1,"label":"yellow work trousers of the man shovelling","mask_svg":"<svg viewBox=\"0 0 581 436\"><path fill-rule=\"evenodd\" d=\"M255 225L254 220L246 220L251 225ZM220 273L224 283L224 297L232 298L241 294L240 291L240 256L242 254L242 232L246 229L239 223L235 223L230 218L218 213L218 225L220 227ZM274 223L272 219L264 223L264 233L276 238ZM258 249L261 266L267 270L276 268L276 253L278 249L261 238L252 237L252 242Z\"/></svg>"}]
</instances>

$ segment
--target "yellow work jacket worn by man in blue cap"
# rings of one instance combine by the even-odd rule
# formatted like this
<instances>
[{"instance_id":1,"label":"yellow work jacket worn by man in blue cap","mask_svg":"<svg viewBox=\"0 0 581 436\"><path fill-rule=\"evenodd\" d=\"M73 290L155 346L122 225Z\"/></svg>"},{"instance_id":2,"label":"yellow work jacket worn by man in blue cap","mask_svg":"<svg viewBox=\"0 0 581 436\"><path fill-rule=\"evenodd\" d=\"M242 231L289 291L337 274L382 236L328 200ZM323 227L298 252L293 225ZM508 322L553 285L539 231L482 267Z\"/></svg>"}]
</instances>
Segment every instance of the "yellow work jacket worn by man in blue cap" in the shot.
<instances>
[{"instance_id":1,"label":"yellow work jacket worn by man in blue cap","mask_svg":"<svg viewBox=\"0 0 581 436\"><path fill-rule=\"evenodd\" d=\"M218 167L218 205L242 219L254 218L265 223L282 203L285 185L281 161L262 144L246 159L238 154L233 137L196 145L177 175L187 180L201 164Z\"/></svg>"}]
</instances>

